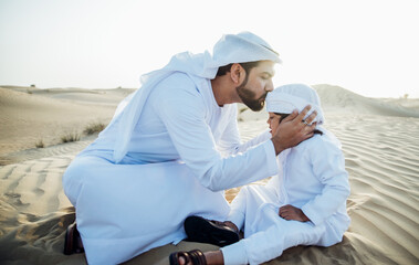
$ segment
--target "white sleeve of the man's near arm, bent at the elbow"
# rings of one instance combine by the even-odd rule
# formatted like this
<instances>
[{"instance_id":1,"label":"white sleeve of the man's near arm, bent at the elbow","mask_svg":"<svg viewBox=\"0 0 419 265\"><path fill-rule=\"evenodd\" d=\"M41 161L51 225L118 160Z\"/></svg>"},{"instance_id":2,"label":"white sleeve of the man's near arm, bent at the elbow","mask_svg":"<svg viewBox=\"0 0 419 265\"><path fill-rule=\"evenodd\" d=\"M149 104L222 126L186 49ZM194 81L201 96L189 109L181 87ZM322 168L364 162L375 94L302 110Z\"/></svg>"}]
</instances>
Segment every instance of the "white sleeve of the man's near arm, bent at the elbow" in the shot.
<instances>
[{"instance_id":1,"label":"white sleeve of the man's near arm, bent at the elbow","mask_svg":"<svg viewBox=\"0 0 419 265\"><path fill-rule=\"evenodd\" d=\"M175 87L161 94L159 107L156 109L181 160L193 171L202 186L219 191L277 173L272 141L238 156L222 158L206 123L206 108L199 92L172 88Z\"/></svg>"}]
</instances>

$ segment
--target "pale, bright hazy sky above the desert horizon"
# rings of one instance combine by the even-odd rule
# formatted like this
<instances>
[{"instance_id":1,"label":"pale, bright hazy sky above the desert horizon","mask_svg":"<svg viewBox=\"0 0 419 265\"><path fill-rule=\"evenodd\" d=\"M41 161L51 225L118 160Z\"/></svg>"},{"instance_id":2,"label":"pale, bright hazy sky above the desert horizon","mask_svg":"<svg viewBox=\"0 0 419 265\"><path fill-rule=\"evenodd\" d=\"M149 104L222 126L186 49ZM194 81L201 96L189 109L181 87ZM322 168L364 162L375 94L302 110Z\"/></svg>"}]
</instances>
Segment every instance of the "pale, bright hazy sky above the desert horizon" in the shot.
<instances>
[{"instance_id":1,"label":"pale, bright hazy sky above the desert horizon","mask_svg":"<svg viewBox=\"0 0 419 265\"><path fill-rule=\"evenodd\" d=\"M418 0L0 0L0 85L136 88L171 55L251 31L274 84L419 97Z\"/></svg>"}]
</instances>

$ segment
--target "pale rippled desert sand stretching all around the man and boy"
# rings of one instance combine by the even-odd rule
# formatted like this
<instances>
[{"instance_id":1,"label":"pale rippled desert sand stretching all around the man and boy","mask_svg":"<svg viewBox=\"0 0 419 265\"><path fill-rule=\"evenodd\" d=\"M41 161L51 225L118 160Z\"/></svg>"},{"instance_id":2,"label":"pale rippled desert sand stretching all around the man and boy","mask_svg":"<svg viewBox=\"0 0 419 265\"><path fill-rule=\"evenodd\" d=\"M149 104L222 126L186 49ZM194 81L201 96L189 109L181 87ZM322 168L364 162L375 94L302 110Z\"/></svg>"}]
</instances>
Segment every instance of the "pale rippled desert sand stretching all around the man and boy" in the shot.
<instances>
[{"instance_id":1,"label":"pale rippled desert sand stretching all around the man and boy","mask_svg":"<svg viewBox=\"0 0 419 265\"><path fill-rule=\"evenodd\" d=\"M315 86L326 127L343 142L352 218L342 243L297 246L268 264L419 264L419 99L366 98L329 85ZM61 178L74 156L107 124L132 89L0 87L0 264L85 264L62 254L74 208ZM240 131L250 139L266 128L266 114L239 106ZM78 141L61 144L67 132ZM42 139L44 148L35 148ZM255 184L265 182L260 181ZM240 188L227 191L231 201ZM177 250L217 250L181 242L151 250L127 264L168 264Z\"/></svg>"}]
</instances>

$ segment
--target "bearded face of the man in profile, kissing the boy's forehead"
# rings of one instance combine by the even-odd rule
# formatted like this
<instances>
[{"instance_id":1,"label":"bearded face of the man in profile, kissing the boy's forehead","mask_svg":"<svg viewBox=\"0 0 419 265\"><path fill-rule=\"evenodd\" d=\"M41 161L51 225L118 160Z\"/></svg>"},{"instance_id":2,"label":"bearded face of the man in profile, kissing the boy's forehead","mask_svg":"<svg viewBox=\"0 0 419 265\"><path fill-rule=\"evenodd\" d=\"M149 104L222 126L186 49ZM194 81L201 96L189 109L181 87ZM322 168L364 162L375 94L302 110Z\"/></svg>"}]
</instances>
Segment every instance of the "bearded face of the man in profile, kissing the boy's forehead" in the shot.
<instances>
[{"instance_id":1,"label":"bearded face of the man in profile, kissing the boy's forehead","mask_svg":"<svg viewBox=\"0 0 419 265\"><path fill-rule=\"evenodd\" d=\"M268 92L273 91L272 77L274 62L262 61L256 67L249 71L249 76L235 87L240 99L253 112L259 112L264 106Z\"/></svg>"}]
</instances>

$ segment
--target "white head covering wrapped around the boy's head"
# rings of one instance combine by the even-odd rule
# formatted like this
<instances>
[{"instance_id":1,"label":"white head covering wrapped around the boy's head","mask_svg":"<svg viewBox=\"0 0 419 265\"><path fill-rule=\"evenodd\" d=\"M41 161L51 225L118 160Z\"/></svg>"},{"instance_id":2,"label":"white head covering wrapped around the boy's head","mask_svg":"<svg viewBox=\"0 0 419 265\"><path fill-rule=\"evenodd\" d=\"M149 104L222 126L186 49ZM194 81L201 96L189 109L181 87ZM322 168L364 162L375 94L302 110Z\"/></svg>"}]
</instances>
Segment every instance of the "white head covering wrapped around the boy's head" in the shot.
<instances>
[{"instance_id":1,"label":"white head covering wrapped around the boy's head","mask_svg":"<svg viewBox=\"0 0 419 265\"><path fill-rule=\"evenodd\" d=\"M311 105L308 114L304 117L307 118L314 110L317 116L313 121L317 125L324 124L324 114L321 106L321 100L315 89L305 84L290 84L276 87L266 96L266 112L269 113L283 113L291 114L294 109L298 112L307 105Z\"/></svg>"}]
</instances>

